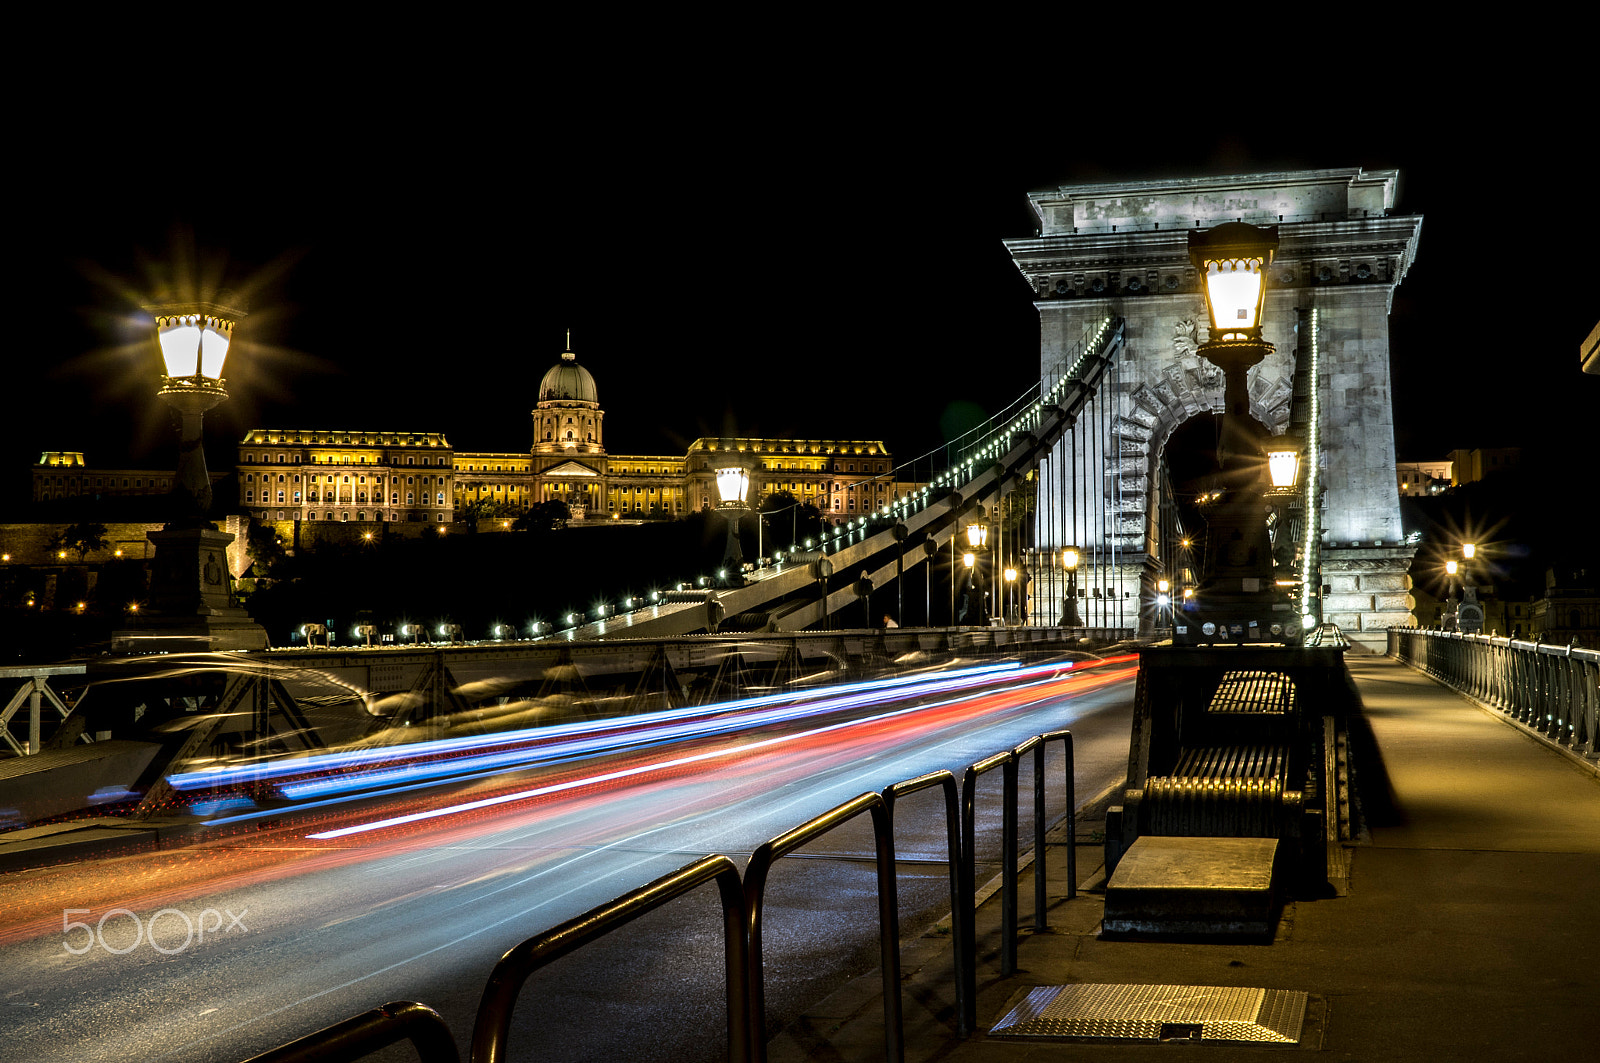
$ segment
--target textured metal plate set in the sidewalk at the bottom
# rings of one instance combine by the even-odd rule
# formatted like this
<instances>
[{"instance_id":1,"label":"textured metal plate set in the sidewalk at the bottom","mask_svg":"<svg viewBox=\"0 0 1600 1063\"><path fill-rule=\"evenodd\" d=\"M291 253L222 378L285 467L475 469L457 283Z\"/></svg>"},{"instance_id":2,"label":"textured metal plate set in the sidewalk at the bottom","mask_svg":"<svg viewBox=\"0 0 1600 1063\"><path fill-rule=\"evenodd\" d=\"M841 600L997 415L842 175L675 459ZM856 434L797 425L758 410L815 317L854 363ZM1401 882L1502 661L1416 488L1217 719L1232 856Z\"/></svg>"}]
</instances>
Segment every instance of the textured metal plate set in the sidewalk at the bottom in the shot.
<instances>
[{"instance_id":1,"label":"textured metal plate set in the sidewalk at the bottom","mask_svg":"<svg viewBox=\"0 0 1600 1063\"><path fill-rule=\"evenodd\" d=\"M992 1037L1299 1044L1304 993L1226 986L1038 986Z\"/></svg>"}]
</instances>

